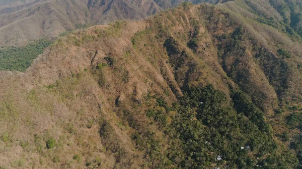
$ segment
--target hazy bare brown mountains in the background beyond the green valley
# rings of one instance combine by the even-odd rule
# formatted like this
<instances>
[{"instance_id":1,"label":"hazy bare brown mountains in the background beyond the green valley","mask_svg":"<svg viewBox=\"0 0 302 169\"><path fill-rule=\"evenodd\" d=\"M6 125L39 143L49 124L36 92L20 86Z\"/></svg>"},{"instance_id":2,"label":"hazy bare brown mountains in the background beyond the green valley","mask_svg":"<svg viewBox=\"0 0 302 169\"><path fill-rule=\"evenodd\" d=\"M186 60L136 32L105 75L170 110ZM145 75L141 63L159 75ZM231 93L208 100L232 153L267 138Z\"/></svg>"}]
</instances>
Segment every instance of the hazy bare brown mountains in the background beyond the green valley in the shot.
<instances>
[{"instance_id":1,"label":"hazy bare brown mountains in the background beyond the green valley","mask_svg":"<svg viewBox=\"0 0 302 169\"><path fill-rule=\"evenodd\" d=\"M141 20L183 1L27 0L0 1L0 46L24 46L40 38L115 20ZM218 1L194 1L194 3Z\"/></svg>"}]
</instances>

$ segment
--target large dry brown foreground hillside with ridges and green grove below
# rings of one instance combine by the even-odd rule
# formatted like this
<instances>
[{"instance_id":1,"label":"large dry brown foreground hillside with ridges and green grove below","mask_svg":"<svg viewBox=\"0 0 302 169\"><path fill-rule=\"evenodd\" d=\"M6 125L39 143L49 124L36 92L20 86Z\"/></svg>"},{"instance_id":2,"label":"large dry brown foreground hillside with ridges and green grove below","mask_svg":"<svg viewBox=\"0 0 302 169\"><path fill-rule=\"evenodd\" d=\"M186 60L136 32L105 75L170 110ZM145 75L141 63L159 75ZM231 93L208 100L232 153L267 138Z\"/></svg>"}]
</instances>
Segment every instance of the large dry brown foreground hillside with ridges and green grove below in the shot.
<instances>
[{"instance_id":1,"label":"large dry brown foreground hillside with ridges and green grove below","mask_svg":"<svg viewBox=\"0 0 302 169\"><path fill-rule=\"evenodd\" d=\"M301 168L300 35L266 5L183 3L0 72L0 167Z\"/></svg>"}]
</instances>

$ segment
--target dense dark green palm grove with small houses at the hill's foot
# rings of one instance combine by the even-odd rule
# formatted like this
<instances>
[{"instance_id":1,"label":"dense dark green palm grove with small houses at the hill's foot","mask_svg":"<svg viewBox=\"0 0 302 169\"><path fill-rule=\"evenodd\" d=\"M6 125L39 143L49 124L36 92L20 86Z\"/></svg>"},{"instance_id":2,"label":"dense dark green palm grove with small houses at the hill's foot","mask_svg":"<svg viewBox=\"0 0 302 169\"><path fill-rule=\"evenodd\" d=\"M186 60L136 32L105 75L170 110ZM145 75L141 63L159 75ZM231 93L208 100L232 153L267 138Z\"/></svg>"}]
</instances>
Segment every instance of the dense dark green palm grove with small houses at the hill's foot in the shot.
<instances>
[{"instance_id":1,"label":"dense dark green palm grove with small houses at the hill's foot","mask_svg":"<svg viewBox=\"0 0 302 169\"><path fill-rule=\"evenodd\" d=\"M162 152L163 143L149 129L138 129L132 139L145 151L152 168L297 167L297 157L276 144L263 112L244 92L234 91L232 99L229 103L211 85L188 88L172 107L157 98L157 106L146 110L145 115L164 131L170 147ZM175 116L169 116L172 111L177 112ZM301 141L294 146L301 150ZM222 159L217 160L220 156Z\"/></svg>"}]
</instances>

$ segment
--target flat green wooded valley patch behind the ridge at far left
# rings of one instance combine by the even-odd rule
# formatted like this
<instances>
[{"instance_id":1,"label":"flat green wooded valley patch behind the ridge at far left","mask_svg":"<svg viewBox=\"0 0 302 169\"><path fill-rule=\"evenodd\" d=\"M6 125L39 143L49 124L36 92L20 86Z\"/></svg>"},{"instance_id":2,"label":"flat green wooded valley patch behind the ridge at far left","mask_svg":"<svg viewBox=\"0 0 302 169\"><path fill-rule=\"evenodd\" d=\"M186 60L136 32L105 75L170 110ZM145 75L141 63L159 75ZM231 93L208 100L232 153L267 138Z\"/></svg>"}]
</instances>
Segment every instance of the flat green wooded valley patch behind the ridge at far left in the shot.
<instances>
[{"instance_id":1,"label":"flat green wooded valley patch behind the ridge at far left","mask_svg":"<svg viewBox=\"0 0 302 169\"><path fill-rule=\"evenodd\" d=\"M23 47L0 48L0 70L24 72L51 40L41 39Z\"/></svg>"}]
</instances>

